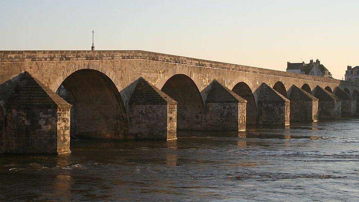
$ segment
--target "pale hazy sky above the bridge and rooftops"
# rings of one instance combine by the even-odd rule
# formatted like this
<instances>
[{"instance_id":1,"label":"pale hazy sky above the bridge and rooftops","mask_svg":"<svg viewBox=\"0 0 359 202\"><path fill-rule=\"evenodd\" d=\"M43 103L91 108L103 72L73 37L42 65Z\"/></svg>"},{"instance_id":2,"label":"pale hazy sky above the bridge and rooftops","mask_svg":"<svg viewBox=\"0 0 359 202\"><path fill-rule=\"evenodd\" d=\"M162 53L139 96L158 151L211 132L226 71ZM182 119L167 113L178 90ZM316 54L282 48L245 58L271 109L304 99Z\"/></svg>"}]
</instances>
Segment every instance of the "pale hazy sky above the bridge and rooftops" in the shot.
<instances>
[{"instance_id":1,"label":"pale hazy sky above the bridge and rooftops","mask_svg":"<svg viewBox=\"0 0 359 202\"><path fill-rule=\"evenodd\" d=\"M0 0L0 50L147 50L284 70L359 65L359 1Z\"/></svg>"}]
</instances>

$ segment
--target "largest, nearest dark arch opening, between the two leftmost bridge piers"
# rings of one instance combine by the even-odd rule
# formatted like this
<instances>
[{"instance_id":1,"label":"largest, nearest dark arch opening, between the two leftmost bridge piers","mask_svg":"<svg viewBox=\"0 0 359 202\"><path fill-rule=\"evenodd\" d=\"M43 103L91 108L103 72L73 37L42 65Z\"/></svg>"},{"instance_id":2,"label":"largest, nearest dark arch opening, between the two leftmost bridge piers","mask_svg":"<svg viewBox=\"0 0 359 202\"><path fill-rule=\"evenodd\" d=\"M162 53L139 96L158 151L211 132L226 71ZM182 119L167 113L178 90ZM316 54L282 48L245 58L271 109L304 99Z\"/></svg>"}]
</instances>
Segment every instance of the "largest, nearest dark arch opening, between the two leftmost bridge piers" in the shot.
<instances>
[{"instance_id":1,"label":"largest, nearest dark arch opening, between the two leftmost bridge piers","mask_svg":"<svg viewBox=\"0 0 359 202\"><path fill-rule=\"evenodd\" d=\"M126 110L117 87L106 74L94 69L77 70L56 92L72 105L72 136L125 138Z\"/></svg>"}]
</instances>

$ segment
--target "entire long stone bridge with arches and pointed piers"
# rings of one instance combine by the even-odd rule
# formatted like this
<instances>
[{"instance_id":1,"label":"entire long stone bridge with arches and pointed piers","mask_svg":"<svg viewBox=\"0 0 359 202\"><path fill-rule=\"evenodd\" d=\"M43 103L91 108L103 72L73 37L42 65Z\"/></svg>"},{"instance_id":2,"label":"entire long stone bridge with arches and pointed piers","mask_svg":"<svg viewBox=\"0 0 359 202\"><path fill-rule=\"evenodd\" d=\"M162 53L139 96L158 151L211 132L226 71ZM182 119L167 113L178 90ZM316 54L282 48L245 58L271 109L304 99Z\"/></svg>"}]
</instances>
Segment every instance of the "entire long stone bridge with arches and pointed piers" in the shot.
<instances>
[{"instance_id":1,"label":"entire long stone bridge with arches and pointed piers","mask_svg":"<svg viewBox=\"0 0 359 202\"><path fill-rule=\"evenodd\" d=\"M148 51L0 51L0 153L337 119L358 98L353 82Z\"/></svg>"}]
</instances>

